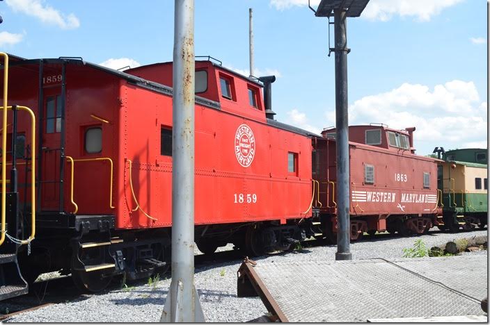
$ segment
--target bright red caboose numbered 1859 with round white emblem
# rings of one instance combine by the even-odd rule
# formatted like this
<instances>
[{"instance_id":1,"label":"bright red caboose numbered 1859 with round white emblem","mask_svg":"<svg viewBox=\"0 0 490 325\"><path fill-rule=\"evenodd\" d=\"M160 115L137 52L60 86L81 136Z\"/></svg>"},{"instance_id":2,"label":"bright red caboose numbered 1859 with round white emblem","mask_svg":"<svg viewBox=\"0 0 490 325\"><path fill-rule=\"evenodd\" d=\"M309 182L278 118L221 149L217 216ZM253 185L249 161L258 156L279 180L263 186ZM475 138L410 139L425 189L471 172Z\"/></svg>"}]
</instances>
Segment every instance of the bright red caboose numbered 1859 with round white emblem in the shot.
<instances>
[{"instance_id":1,"label":"bright red caboose numbered 1859 with round white emblem","mask_svg":"<svg viewBox=\"0 0 490 325\"><path fill-rule=\"evenodd\" d=\"M15 125L25 217L30 152L39 157L24 276L61 270L97 291L113 274L169 265L172 63L124 73L77 58L19 60L9 77L8 102L38 121L38 143L28 119ZM311 216L312 135L266 113L262 83L196 62L195 233L205 253L232 242L255 255L305 238L297 221ZM41 265L43 256L57 258Z\"/></svg>"}]
</instances>

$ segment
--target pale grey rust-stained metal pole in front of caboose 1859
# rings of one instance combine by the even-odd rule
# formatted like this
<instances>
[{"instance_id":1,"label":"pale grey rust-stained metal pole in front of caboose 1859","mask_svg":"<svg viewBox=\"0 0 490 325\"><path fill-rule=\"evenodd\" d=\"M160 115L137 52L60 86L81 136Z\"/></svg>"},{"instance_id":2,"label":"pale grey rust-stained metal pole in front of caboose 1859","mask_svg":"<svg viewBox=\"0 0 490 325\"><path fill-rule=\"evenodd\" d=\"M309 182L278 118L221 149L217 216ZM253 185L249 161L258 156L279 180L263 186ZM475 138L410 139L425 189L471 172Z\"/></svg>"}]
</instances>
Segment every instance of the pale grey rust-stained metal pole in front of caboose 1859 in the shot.
<instances>
[{"instance_id":1,"label":"pale grey rust-stained metal pole in front of caboose 1859","mask_svg":"<svg viewBox=\"0 0 490 325\"><path fill-rule=\"evenodd\" d=\"M194 0L175 0L172 282L160 322L204 322L194 287Z\"/></svg>"}]
</instances>

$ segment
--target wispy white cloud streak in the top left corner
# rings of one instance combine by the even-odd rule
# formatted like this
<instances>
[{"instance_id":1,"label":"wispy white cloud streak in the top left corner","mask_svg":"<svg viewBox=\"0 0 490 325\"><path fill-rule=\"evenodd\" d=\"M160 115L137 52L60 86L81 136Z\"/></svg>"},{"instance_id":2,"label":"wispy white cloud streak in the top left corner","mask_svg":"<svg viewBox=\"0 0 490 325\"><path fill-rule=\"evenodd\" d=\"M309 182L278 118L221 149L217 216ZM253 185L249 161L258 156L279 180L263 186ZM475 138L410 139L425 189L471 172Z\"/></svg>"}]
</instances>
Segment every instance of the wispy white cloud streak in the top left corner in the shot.
<instances>
[{"instance_id":1,"label":"wispy white cloud streak in the top left corner","mask_svg":"<svg viewBox=\"0 0 490 325\"><path fill-rule=\"evenodd\" d=\"M65 15L52 6L45 4L43 0L6 0L6 3L15 12L22 12L36 17L46 24L54 24L63 29L80 26L79 19L73 13Z\"/></svg>"}]
</instances>

